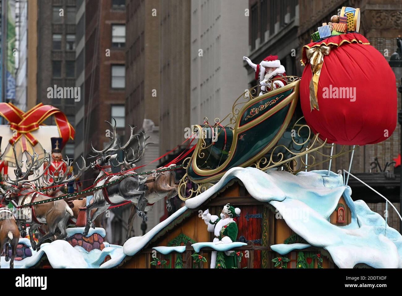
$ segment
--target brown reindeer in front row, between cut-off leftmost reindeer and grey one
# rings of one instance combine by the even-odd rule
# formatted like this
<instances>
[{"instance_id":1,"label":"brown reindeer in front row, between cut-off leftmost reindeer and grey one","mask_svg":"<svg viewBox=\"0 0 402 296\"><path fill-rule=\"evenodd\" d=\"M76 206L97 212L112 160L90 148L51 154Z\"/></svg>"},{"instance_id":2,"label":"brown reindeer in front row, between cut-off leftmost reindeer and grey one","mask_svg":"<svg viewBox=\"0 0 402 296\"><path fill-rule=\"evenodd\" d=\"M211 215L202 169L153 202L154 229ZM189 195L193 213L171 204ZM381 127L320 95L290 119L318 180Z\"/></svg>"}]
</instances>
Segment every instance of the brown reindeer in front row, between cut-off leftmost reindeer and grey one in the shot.
<instances>
[{"instance_id":1,"label":"brown reindeer in front row, between cut-off leftmost reindeer and grey one","mask_svg":"<svg viewBox=\"0 0 402 296\"><path fill-rule=\"evenodd\" d=\"M13 147L13 150L14 157L16 158L15 147ZM33 155L31 155L30 153L28 153L28 155L31 163L29 165L29 168L27 169L27 172L21 173L23 172L22 166L21 164L18 164L18 161L16 161L16 178L11 179L10 177L8 177L6 182L10 186L7 188L6 191L2 190L5 200L13 201L14 204L16 201L16 206L23 206L25 204L31 203L33 200L35 202L45 201L50 198L43 193L36 192L35 188L33 188L32 185L33 182L39 180L40 178L43 178L43 174L47 170L47 168L49 168L49 164L42 173L39 173L39 168L42 165L42 162L38 163L39 155L35 153L35 151L33 151ZM47 154L47 159L50 159L49 153ZM34 172L37 173L35 174L34 178L27 181L27 178L32 169L34 170ZM31 227L29 228L29 236L32 248L36 250L40 248L41 244L45 240L53 237L56 227L60 230L60 235L57 236L57 239L65 238L67 236L66 227L68 219L73 216L72 210L63 200L34 205L31 207L31 209L29 209L28 207L23 207L22 214L22 217L18 217L18 219L31 224ZM33 231L41 226L41 224L47 224L49 231L44 236L39 238L39 242L38 244L36 244L33 240Z\"/></svg>"}]
</instances>

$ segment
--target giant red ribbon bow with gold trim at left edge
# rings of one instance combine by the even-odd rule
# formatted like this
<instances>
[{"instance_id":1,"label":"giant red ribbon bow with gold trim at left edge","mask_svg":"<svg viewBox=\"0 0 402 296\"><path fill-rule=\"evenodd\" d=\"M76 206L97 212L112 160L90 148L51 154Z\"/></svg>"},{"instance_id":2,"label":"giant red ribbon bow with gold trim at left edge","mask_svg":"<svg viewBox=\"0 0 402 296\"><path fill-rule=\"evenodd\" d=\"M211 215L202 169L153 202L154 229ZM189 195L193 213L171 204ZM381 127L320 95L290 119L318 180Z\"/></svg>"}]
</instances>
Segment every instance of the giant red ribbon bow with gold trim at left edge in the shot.
<instances>
[{"instance_id":1,"label":"giant red ribbon bow with gold trim at left edge","mask_svg":"<svg viewBox=\"0 0 402 296\"><path fill-rule=\"evenodd\" d=\"M39 103L31 110L23 112L12 103L0 103L0 115L10 122L10 129L16 131L14 137L9 140L11 145L14 145L24 135L32 146L35 146L38 141L31 132L37 130L52 115L55 118L60 137L63 138L63 145L68 139L74 140L74 128L68 122L66 115L56 107Z\"/></svg>"}]
</instances>

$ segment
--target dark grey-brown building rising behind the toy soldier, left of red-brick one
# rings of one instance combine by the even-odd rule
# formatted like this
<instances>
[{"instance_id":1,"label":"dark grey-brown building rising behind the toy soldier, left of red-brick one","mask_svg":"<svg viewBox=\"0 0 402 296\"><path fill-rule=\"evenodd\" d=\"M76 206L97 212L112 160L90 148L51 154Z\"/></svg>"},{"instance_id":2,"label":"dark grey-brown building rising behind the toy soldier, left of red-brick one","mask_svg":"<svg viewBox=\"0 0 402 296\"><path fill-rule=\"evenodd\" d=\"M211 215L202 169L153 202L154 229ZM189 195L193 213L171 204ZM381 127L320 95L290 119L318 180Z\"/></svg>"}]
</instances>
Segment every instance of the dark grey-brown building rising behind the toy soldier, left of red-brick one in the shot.
<instances>
[{"instance_id":1,"label":"dark grey-brown building rising behind the toy soldier, left of red-brick one","mask_svg":"<svg viewBox=\"0 0 402 296\"><path fill-rule=\"evenodd\" d=\"M48 98L47 89L75 86L76 1L43 0L37 5L37 103L60 108L74 126L74 99ZM74 157L74 142L63 152Z\"/></svg>"}]
</instances>

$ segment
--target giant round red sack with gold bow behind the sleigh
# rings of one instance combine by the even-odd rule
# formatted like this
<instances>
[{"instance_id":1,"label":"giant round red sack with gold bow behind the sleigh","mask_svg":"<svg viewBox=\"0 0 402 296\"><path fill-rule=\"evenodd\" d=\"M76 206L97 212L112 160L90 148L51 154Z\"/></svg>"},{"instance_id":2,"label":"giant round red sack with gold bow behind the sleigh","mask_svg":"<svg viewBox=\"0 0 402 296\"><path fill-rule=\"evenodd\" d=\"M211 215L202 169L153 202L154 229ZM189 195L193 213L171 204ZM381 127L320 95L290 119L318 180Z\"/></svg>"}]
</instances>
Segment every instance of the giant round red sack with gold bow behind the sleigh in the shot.
<instances>
[{"instance_id":1,"label":"giant round red sack with gold bow behind the sleigh","mask_svg":"<svg viewBox=\"0 0 402 296\"><path fill-rule=\"evenodd\" d=\"M303 47L300 101L307 124L328 143L366 145L394 132L397 95L394 72L359 33Z\"/></svg>"}]
</instances>

